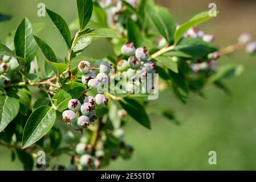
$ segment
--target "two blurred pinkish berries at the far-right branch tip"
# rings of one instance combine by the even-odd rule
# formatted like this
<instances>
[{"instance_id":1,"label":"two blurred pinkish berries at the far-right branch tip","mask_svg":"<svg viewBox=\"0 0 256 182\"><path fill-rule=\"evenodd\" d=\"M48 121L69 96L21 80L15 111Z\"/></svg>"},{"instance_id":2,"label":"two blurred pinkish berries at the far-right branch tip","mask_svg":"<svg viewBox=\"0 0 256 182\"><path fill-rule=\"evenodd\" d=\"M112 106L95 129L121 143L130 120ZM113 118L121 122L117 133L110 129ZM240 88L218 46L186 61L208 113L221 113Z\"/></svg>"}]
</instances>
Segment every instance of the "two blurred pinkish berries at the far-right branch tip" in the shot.
<instances>
[{"instance_id":1,"label":"two blurred pinkish berries at the far-right branch tip","mask_svg":"<svg viewBox=\"0 0 256 182\"><path fill-rule=\"evenodd\" d=\"M251 35L248 33L243 33L238 38L238 43L246 45L246 52L250 55L256 53L256 42L252 41Z\"/></svg>"}]
</instances>

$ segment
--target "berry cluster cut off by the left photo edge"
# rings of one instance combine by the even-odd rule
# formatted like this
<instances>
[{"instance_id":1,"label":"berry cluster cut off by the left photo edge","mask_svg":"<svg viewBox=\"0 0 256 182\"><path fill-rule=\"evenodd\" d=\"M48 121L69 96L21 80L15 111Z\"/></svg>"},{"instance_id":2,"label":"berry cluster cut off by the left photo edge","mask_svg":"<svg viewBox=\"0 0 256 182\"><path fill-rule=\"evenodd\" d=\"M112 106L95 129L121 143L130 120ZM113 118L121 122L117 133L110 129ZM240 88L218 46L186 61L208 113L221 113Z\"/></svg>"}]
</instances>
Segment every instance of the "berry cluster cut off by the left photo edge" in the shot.
<instances>
[{"instance_id":1,"label":"berry cluster cut off by the left photo edge","mask_svg":"<svg viewBox=\"0 0 256 182\"><path fill-rule=\"evenodd\" d=\"M0 86L9 85L18 69L17 59L10 56L0 56Z\"/></svg>"}]
</instances>

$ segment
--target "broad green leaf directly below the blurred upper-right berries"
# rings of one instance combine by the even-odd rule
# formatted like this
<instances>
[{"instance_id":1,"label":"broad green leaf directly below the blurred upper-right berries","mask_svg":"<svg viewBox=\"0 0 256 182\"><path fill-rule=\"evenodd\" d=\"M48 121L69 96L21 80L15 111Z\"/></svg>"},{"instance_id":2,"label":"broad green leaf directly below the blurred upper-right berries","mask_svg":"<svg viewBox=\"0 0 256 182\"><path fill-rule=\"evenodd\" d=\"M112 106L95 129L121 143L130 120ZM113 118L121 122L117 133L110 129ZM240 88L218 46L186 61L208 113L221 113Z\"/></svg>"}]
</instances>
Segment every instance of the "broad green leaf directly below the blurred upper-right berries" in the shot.
<instances>
[{"instance_id":1,"label":"broad green leaf directly below the blurred upper-right berries","mask_svg":"<svg viewBox=\"0 0 256 182\"><path fill-rule=\"evenodd\" d=\"M209 53L218 51L218 48L213 43L204 42L202 39L183 38L174 50L190 55L195 60L198 57L207 56Z\"/></svg>"}]
</instances>

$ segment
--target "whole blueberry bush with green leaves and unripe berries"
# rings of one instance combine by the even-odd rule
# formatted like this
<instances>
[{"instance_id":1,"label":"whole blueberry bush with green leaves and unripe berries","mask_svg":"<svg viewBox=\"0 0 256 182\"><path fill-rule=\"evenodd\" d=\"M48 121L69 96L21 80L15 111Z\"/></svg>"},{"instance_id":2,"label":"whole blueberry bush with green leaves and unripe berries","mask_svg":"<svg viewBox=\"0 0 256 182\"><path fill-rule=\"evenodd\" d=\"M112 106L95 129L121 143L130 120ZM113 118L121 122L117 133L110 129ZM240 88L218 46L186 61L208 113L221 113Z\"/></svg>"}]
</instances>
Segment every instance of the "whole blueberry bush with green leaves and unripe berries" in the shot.
<instances>
[{"instance_id":1,"label":"whole blueberry bush with green leaves and unripe berries","mask_svg":"<svg viewBox=\"0 0 256 182\"><path fill-rule=\"evenodd\" d=\"M131 120L151 129L149 96L169 89L185 104L190 92L204 97L209 84L228 92L222 80L239 76L243 67L220 67L217 60L239 49L256 52L250 34L226 48L216 46L214 35L195 28L214 18L208 11L178 24L153 0L76 4L78 18L70 26L46 9L63 38L65 57L36 35L40 23L27 18L0 43L0 144L26 170L93 170L131 158L124 126ZM8 19L0 14L1 23ZM111 55L99 60L80 55L100 38L113 45ZM39 91L32 105L34 87ZM155 112L177 121L168 108ZM38 162L38 151L46 154L45 162ZM51 163L60 155L70 156L68 166Z\"/></svg>"}]
</instances>

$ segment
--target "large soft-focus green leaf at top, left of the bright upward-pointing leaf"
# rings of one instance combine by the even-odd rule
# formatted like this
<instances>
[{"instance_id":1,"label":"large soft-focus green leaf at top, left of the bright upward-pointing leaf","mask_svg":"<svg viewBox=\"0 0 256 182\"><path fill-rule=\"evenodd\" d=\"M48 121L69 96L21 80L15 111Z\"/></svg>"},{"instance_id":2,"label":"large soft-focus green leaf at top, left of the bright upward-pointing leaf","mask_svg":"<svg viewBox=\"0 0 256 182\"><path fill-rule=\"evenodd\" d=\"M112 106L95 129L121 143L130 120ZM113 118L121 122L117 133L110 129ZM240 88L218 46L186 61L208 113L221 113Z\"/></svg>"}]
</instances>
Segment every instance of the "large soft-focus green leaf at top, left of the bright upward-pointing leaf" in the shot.
<instances>
[{"instance_id":1,"label":"large soft-focus green leaf at top, left of the bright upward-pointing leaf","mask_svg":"<svg viewBox=\"0 0 256 182\"><path fill-rule=\"evenodd\" d=\"M156 30L164 36L170 44L173 43L173 35L176 31L176 22L169 11L164 7L157 7L156 10L152 6L147 6L146 14L156 28Z\"/></svg>"}]
</instances>

